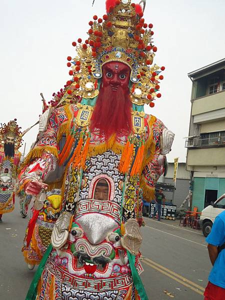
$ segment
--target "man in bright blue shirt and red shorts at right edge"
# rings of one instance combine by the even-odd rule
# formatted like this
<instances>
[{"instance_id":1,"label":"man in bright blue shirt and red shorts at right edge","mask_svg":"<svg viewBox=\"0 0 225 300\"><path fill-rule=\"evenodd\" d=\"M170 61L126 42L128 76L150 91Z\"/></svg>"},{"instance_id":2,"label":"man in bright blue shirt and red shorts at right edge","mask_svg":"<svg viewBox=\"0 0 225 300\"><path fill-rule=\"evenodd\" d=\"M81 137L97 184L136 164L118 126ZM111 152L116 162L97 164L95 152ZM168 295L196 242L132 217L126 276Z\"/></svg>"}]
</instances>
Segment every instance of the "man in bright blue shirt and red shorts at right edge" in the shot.
<instances>
[{"instance_id":1,"label":"man in bright blue shirt and red shorts at right edge","mask_svg":"<svg viewBox=\"0 0 225 300\"><path fill-rule=\"evenodd\" d=\"M208 254L213 265L204 291L204 300L225 299L225 211L219 213L205 239ZM218 246L221 250L218 251ZM224 248L223 248L224 247Z\"/></svg>"}]
</instances>

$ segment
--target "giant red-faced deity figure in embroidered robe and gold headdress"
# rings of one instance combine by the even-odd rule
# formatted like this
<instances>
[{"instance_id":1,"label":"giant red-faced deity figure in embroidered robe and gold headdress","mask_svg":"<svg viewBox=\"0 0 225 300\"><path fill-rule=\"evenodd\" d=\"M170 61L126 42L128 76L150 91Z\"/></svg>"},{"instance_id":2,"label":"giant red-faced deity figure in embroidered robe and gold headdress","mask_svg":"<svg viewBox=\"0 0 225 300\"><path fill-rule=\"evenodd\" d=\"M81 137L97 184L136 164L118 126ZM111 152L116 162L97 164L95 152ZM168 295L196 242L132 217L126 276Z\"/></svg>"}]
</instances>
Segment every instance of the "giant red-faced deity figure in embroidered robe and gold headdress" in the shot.
<instances>
[{"instance_id":1,"label":"giant red-faced deity figure in embroidered robe and gold headdress","mask_svg":"<svg viewBox=\"0 0 225 300\"><path fill-rule=\"evenodd\" d=\"M19 175L20 188L41 206L45 182L62 174L62 212L26 300L147 299L140 199L154 198L173 133L143 105L160 97L164 68L152 64L157 48L140 5L107 0L106 10L93 16L84 43L72 43L77 56L67 57L63 97L80 101L59 101Z\"/></svg>"}]
</instances>

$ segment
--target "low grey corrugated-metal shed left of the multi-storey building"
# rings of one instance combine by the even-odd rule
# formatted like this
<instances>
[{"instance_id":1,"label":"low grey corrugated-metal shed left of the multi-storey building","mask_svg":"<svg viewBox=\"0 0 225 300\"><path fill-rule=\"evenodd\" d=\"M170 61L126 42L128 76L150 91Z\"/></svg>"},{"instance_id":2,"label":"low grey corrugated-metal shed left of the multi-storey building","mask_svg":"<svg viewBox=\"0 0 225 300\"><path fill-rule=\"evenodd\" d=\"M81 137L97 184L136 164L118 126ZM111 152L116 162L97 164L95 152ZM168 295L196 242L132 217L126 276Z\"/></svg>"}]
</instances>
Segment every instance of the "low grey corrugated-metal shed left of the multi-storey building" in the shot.
<instances>
[{"instance_id":1,"label":"low grey corrugated-metal shed left of the multi-storey building","mask_svg":"<svg viewBox=\"0 0 225 300\"><path fill-rule=\"evenodd\" d=\"M174 174L174 163L168 162L168 169L165 176L160 176L158 182L174 184L173 182ZM179 208L183 201L189 194L189 183L190 183L190 171L186 170L185 162L179 162L176 172L176 182L174 192L166 190L163 188L163 193L166 197L166 202L171 202L176 205L176 208ZM188 201L183 205L184 208L188 208Z\"/></svg>"}]
</instances>

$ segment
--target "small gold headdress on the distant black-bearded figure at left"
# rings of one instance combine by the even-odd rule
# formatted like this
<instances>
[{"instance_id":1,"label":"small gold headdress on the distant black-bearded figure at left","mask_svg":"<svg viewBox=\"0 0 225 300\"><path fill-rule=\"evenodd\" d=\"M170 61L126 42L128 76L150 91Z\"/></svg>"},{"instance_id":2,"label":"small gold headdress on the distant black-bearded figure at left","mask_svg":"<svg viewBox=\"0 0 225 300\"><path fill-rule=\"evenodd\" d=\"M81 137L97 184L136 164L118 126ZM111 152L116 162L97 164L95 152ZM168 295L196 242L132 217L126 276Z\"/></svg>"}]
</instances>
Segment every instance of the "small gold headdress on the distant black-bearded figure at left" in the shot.
<instances>
[{"instance_id":1,"label":"small gold headdress on the distant black-bearded figure at left","mask_svg":"<svg viewBox=\"0 0 225 300\"><path fill-rule=\"evenodd\" d=\"M14 137L15 149L18 149L22 145L22 132L16 123L16 119L9 121L7 124L1 124L0 128L0 139L4 143L6 136Z\"/></svg>"}]
</instances>

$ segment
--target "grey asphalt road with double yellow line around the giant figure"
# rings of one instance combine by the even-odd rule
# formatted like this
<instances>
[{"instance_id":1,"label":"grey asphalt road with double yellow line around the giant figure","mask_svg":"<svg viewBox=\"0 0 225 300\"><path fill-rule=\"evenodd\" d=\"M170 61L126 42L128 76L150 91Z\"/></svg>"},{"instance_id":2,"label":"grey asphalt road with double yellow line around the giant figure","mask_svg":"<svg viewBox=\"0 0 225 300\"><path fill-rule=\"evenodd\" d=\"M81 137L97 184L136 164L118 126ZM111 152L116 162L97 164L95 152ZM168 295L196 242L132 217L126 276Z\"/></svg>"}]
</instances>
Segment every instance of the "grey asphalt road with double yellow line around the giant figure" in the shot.
<instances>
[{"instance_id":1,"label":"grey asphalt road with double yellow line around the giant figure","mask_svg":"<svg viewBox=\"0 0 225 300\"><path fill-rule=\"evenodd\" d=\"M21 253L28 218L15 209L0 223L0 300L24 300L34 270L27 269ZM198 300L210 271L206 243L199 231L175 226L174 221L145 218L142 227L141 274L149 300Z\"/></svg>"}]
</instances>

